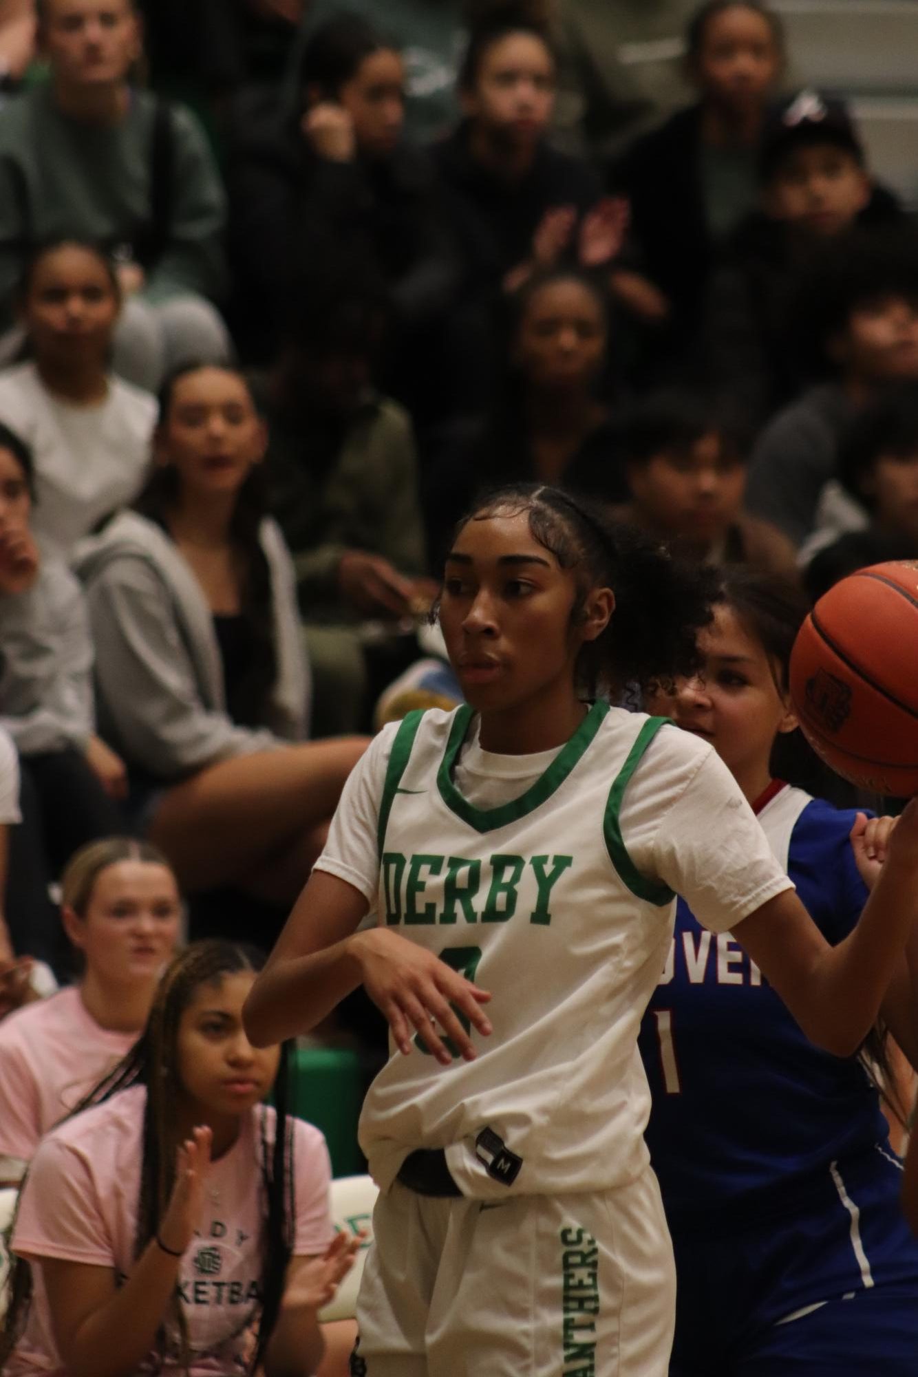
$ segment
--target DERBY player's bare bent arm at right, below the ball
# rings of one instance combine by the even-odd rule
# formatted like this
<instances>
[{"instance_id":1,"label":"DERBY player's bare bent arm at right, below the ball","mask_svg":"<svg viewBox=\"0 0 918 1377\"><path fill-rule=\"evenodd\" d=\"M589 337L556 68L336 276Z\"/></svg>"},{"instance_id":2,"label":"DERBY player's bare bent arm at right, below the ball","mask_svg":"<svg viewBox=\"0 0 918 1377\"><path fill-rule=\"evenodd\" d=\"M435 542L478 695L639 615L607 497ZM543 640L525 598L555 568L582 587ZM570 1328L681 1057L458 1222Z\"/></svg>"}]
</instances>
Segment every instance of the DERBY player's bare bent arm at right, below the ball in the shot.
<instances>
[{"instance_id":1,"label":"DERBY player's bare bent arm at right, below the ball","mask_svg":"<svg viewBox=\"0 0 918 1377\"><path fill-rule=\"evenodd\" d=\"M835 1056L852 1056L877 1020L918 924L918 800L889 839L886 862L855 929L830 946L791 891L734 929L801 1029Z\"/></svg>"}]
</instances>

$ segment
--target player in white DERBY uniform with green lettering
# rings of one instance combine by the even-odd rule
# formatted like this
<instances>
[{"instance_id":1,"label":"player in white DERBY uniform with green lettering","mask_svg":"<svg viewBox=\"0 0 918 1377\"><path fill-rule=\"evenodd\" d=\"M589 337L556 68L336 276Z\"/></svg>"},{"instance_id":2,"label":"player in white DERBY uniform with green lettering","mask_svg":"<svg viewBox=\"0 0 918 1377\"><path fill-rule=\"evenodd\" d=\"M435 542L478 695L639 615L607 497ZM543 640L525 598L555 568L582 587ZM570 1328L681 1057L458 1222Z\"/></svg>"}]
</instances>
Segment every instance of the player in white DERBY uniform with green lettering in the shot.
<instances>
[{"instance_id":1,"label":"player in white DERBY uniform with green lettering","mask_svg":"<svg viewBox=\"0 0 918 1377\"><path fill-rule=\"evenodd\" d=\"M816 1041L853 1052L877 1016L918 913L917 811L833 949L716 752L586 701L597 677L687 669L706 577L555 489L480 505L439 607L467 705L373 742L246 1001L257 1042L361 982L389 1020L361 1126L383 1194L355 1373L666 1373L637 1030L673 892L738 934Z\"/></svg>"}]
</instances>

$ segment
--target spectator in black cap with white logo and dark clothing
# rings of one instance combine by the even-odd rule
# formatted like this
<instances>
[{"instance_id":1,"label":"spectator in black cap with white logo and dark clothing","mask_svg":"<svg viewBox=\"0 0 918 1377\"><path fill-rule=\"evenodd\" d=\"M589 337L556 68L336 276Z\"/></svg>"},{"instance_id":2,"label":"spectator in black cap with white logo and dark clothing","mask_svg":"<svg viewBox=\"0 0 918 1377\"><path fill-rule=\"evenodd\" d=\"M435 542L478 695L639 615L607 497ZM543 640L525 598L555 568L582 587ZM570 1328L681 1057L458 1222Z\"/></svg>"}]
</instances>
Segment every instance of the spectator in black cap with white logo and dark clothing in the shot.
<instances>
[{"instance_id":1,"label":"spectator in black cap with white logo and dark clothing","mask_svg":"<svg viewBox=\"0 0 918 1377\"><path fill-rule=\"evenodd\" d=\"M790 315L827 242L853 229L870 234L904 212L871 176L845 105L816 91L772 112L758 174L761 209L738 227L714 275L702 353L710 379L765 420L800 390Z\"/></svg>"}]
</instances>

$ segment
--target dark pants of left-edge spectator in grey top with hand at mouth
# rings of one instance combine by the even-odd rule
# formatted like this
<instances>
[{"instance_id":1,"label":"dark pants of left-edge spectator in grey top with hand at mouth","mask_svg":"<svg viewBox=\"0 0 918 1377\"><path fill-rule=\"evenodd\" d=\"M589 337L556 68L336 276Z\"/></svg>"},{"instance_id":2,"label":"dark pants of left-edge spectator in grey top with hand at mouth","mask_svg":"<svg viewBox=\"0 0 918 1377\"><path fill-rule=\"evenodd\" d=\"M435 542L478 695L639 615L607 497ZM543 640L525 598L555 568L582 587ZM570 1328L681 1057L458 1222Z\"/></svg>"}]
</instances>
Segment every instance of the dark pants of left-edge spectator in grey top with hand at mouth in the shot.
<instances>
[{"instance_id":1,"label":"dark pants of left-edge spectator in grey top with hand at mouth","mask_svg":"<svg viewBox=\"0 0 918 1377\"><path fill-rule=\"evenodd\" d=\"M48 885L88 841L125 832L124 815L76 749L19 757L22 822L10 829L6 917L18 956L66 975L69 946Z\"/></svg>"}]
</instances>

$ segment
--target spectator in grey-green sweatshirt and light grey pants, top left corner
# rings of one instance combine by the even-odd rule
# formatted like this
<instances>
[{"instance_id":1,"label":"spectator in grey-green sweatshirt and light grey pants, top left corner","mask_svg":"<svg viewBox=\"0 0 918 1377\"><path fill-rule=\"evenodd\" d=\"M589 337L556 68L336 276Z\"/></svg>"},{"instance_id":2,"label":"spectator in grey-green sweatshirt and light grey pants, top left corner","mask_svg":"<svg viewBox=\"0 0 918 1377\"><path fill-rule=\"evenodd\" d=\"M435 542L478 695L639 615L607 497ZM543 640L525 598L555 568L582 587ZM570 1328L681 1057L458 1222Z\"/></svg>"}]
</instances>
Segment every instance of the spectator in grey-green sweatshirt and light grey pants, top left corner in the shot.
<instances>
[{"instance_id":1,"label":"spectator in grey-green sweatshirt and light grey pants, top left corner","mask_svg":"<svg viewBox=\"0 0 918 1377\"><path fill-rule=\"evenodd\" d=\"M116 370L156 390L182 362L230 351L212 304L224 286L219 175L194 118L131 85L135 0L40 0L37 11L50 81L0 116L0 325L12 325L37 245L103 244L125 300Z\"/></svg>"}]
</instances>

